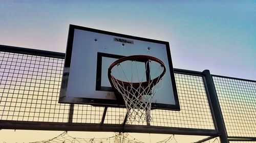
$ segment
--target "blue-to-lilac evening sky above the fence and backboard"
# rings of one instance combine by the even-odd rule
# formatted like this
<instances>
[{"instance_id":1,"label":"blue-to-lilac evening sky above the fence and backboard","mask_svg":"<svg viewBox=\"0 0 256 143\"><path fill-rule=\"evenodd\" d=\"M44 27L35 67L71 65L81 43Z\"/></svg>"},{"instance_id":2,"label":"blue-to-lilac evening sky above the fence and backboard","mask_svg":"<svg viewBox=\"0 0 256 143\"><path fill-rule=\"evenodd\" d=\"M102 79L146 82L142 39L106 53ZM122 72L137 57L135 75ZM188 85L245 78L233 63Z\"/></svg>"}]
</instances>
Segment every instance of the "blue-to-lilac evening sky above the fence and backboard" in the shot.
<instances>
[{"instance_id":1,"label":"blue-to-lilac evening sky above the fence and backboard","mask_svg":"<svg viewBox=\"0 0 256 143\"><path fill-rule=\"evenodd\" d=\"M66 51L69 24L168 41L174 68L256 80L256 1L0 1L0 44Z\"/></svg>"}]
</instances>

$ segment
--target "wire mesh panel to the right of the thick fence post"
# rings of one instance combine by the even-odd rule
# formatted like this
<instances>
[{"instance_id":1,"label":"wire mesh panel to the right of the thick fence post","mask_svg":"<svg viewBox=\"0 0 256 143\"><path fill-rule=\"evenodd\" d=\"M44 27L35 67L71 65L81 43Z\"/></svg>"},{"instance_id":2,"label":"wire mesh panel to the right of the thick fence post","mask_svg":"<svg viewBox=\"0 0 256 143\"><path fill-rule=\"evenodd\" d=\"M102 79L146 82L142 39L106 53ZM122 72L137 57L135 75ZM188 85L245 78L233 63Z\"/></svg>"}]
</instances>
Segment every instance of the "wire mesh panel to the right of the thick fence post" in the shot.
<instances>
[{"instance_id":1,"label":"wire mesh panel to the right of the thick fence post","mask_svg":"<svg viewBox=\"0 0 256 143\"><path fill-rule=\"evenodd\" d=\"M256 81L212 76L228 136L256 136Z\"/></svg>"}]
</instances>

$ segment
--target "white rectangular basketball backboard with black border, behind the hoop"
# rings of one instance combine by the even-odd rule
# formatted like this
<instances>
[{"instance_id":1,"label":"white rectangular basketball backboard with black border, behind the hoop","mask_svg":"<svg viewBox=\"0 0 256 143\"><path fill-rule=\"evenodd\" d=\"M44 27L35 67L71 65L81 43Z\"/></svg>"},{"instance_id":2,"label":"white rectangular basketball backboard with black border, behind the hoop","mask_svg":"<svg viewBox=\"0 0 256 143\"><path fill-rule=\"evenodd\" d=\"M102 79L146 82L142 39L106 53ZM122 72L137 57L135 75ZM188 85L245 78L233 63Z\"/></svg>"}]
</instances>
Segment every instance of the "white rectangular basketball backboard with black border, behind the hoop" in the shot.
<instances>
[{"instance_id":1,"label":"white rectangular basketball backboard with black border, behind the hoop","mask_svg":"<svg viewBox=\"0 0 256 143\"><path fill-rule=\"evenodd\" d=\"M154 108L179 110L169 43L70 25L60 103L118 105L108 79L108 68L129 55L150 55L166 66ZM129 67L126 67L129 68Z\"/></svg>"}]
</instances>

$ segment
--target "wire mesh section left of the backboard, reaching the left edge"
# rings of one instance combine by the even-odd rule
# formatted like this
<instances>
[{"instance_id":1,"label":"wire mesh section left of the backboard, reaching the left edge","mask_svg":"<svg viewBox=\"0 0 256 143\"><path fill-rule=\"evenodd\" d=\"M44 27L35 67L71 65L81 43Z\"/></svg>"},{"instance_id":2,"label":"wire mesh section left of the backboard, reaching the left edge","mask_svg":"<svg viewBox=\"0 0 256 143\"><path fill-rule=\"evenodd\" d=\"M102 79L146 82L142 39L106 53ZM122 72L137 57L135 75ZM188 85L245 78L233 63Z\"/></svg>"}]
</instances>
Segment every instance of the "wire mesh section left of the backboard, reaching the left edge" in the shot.
<instances>
[{"instance_id":1,"label":"wire mesh section left of the backboard, reaching the left edge","mask_svg":"<svg viewBox=\"0 0 256 143\"><path fill-rule=\"evenodd\" d=\"M0 52L0 119L67 122L69 105L58 104L63 60Z\"/></svg>"}]
</instances>

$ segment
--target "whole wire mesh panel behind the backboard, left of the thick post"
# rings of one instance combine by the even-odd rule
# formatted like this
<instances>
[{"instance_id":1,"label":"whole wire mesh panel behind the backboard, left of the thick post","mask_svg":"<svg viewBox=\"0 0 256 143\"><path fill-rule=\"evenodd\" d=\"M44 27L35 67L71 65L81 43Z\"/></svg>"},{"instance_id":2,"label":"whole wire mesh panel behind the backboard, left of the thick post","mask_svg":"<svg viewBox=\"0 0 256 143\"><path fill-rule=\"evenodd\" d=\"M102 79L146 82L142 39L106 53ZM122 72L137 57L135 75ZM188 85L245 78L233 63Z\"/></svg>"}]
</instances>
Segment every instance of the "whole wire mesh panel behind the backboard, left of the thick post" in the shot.
<instances>
[{"instance_id":1,"label":"whole wire mesh panel behind the backboard, left of the thick post","mask_svg":"<svg viewBox=\"0 0 256 143\"><path fill-rule=\"evenodd\" d=\"M187 134L194 134L197 129L196 133L201 135L218 133L201 74L175 73L180 111L154 109L150 125L145 122L131 123L126 121L126 108L58 103L64 54L48 56L26 50L0 52L0 121L65 123L54 127L47 123L51 130L58 130L58 127L86 130L81 128L82 125L91 124L88 130L96 127L93 130L119 131L125 123L133 132L149 132L148 129L161 132L155 127L163 127L161 129L168 132L172 127L179 128L174 130L180 134L182 128L191 129ZM3 123L0 122L1 125Z\"/></svg>"}]
</instances>

